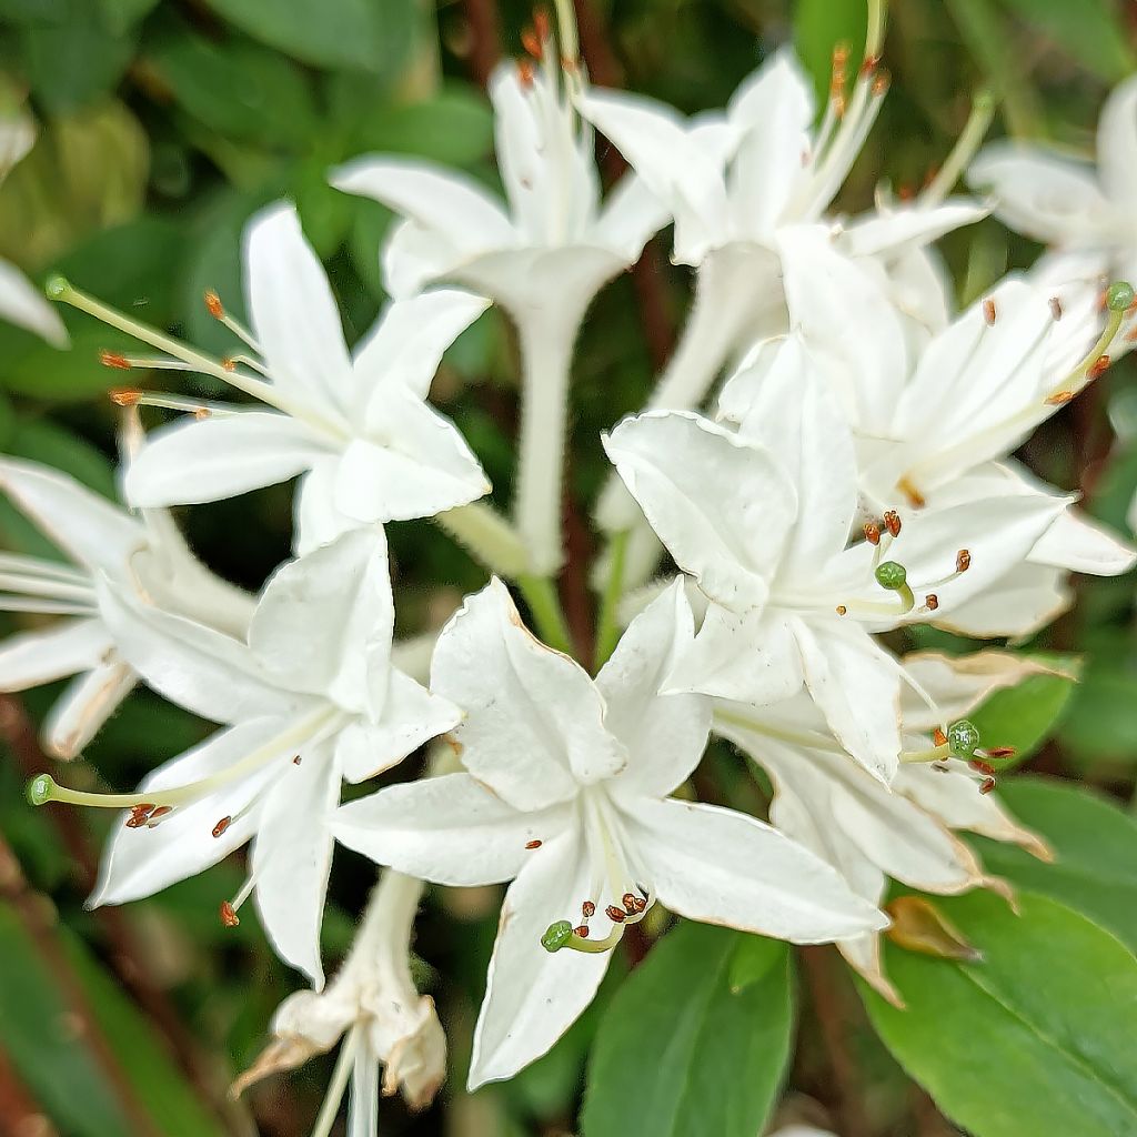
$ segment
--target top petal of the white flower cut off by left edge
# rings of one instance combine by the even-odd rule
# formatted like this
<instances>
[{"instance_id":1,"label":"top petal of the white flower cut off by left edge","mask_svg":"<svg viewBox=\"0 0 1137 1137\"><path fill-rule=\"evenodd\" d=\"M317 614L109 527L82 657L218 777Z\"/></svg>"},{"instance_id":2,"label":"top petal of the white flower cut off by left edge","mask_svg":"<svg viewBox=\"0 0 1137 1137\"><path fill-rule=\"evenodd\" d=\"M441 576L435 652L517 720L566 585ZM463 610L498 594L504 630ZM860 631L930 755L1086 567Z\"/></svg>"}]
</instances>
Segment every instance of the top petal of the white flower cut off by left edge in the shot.
<instances>
[{"instance_id":1,"label":"top petal of the white flower cut off by left edge","mask_svg":"<svg viewBox=\"0 0 1137 1137\"><path fill-rule=\"evenodd\" d=\"M144 541L142 526L125 509L50 466L2 458L0 490L88 567L121 570Z\"/></svg>"}]
</instances>

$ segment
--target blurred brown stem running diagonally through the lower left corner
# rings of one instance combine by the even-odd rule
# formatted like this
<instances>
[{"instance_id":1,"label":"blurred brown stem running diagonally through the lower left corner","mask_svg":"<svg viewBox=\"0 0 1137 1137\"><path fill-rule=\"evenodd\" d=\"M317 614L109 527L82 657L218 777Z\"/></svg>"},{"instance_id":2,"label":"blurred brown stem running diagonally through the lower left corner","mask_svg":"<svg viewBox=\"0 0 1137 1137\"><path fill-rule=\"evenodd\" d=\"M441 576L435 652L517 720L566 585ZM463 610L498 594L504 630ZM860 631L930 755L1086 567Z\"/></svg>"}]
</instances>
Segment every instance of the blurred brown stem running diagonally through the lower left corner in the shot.
<instances>
[{"instance_id":1,"label":"blurred brown stem running diagonally through the lower left corner","mask_svg":"<svg viewBox=\"0 0 1137 1137\"><path fill-rule=\"evenodd\" d=\"M33 778L48 769L50 763L40 748L35 729L15 695L0 695L0 738L25 777ZM80 888L90 891L98 877L98 857L77 820L78 815L74 810L51 806L48 816L77 870ZM165 1036L177 1065L229 1132L234 1137L247 1137L252 1132L252 1126L243 1106L227 1099L225 1071L204 1053L183 1026L177 1010L155 980L147 952L139 944L126 914L113 906L98 907L93 914L107 937L110 946L108 958L123 987Z\"/></svg>"}]
</instances>

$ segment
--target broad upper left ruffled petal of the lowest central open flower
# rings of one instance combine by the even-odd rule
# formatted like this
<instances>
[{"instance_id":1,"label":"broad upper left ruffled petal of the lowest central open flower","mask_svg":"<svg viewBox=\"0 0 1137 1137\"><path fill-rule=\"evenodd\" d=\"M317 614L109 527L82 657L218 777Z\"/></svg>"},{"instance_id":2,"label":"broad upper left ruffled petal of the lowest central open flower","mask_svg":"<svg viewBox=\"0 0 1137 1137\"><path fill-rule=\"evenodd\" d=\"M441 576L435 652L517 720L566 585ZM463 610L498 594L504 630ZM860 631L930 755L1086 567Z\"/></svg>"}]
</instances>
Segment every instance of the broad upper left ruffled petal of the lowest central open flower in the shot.
<instances>
[{"instance_id":1,"label":"broad upper left ruffled petal of the lowest central open flower","mask_svg":"<svg viewBox=\"0 0 1137 1137\"><path fill-rule=\"evenodd\" d=\"M566 800L626 762L588 674L532 636L496 578L442 630L431 690L465 712L463 764L516 808Z\"/></svg>"}]
</instances>

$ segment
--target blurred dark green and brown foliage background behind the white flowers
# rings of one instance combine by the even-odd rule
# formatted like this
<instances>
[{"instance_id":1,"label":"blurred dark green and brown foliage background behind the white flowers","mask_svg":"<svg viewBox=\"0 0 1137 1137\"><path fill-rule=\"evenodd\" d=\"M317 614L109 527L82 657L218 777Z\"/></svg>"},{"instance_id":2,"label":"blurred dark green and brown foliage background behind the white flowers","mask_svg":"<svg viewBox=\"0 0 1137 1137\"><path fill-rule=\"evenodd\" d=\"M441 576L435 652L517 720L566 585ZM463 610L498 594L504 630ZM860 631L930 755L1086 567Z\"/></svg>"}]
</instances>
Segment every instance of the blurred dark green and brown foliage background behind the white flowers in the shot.
<instances>
[{"instance_id":1,"label":"blurred dark green and brown foliage background behind the white flowers","mask_svg":"<svg viewBox=\"0 0 1137 1137\"><path fill-rule=\"evenodd\" d=\"M848 41L855 53L864 35L862 0L576 0L576 8L595 82L684 111L722 106L791 38L824 92L833 44ZM326 171L358 153L397 151L492 184L483 84L499 58L521 53L531 16L513 0L0 0L0 110L24 106L39 126L34 149L0 186L0 257L39 282L63 272L139 318L224 354L233 341L209 317L202 292L216 290L241 315L242 226L265 202L289 197L327 265L354 340L384 300L377 250L391 217L329 188ZM891 91L839 205L865 208L881 180L897 191L918 188L951 149L981 88L1001 100L993 135L1046 138L1088 152L1104 92L1135 63L1137 3L894 0L885 50ZM600 160L607 175L619 173L619 158L603 144ZM669 263L669 242L661 234L637 269L601 294L579 346L572 563L563 590L583 636L591 603L588 507L604 473L597 432L641 402L689 300L688 272ZM994 221L953 234L944 251L961 302L1037 254ZM106 391L123 375L101 367L98 352L127 341L85 316L63 315L72 337L66 352L0 325L0 447L113 496L117 408ZM512 331L490 313L449 352L433 389L503 503L515 375ZM194 379L183 389L217 393ZM1123 529L1137 485L1132 365L1111 368L1046 424L1023 457L1047 480L1080 489L1090 513ZM183 522L211 566L256 589L289 553L290 487L188 511ZM425 522L393 525L390 538L401 633L437 625L483 579ZM3 501L0 540L17 551L50 548ZM1088 780L1128 802L1137 762L1132 581L1084 579L1076 588L1074 608L1034 647L1077 656L1081 683L1038 677L1027 696L1004 698L987 714L1001 723L999 741L1013 733L1034 769ZM0 630L15 628L3 620ZM23 797L27 778L50 767L35 732L55 695L40 689L0 700L0 1132L306 1134L329 1061L259 1085L240 1103L226 1096L267 1040L276 1005L300 985L275 961L255 919L221 926L217 906L239 886L240 868L223 864L128 910L84 911L103 819L32 811ZM1055 721L1056 737L1041 745ZM76 786L131 787L209 729L140 691L68 778ZM398 777L414 772L410 763ZM699 789L709 799L741 797L761 813L761 792L736 785L746 777L729 753L714 750ZM329 961L350 943L372 881L362 860L338 854ZM496 889L428 897L416 966L447 1027L454 1069L423 1114L384 1101L383 1134L573 1130L603 996L513 1084L474 1097L460 1090L498 901ZM606 990L628 965L613 969ZM868 1082L864 1132L954 1132L864 1024L844 972L831 979L837 988L822 993L825 1014L848 1016ZM805 995L821 997L812 987ZM816 1016L802 1014L789 1088L790 1107L802 1117L823 1118L811 1113L813 1102L831 1104L822 1031ZM633 1119L629 1126L634 1132Z\"/></svg>"}]
</instances>

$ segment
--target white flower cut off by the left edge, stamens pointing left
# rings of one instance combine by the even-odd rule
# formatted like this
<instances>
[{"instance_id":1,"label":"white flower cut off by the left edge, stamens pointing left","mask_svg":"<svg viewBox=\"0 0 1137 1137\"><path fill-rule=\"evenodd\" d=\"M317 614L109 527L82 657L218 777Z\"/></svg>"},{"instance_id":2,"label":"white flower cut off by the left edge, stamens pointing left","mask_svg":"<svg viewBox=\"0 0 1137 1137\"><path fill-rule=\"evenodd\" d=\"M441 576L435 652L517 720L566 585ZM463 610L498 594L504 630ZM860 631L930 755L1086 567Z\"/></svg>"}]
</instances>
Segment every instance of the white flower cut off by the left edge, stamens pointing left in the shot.
<instances>
[{"instance_id":1,"label":"white flower cut off by the left edge, stamens pointing left","mask_svg":"<svg viewBox=\"0 0 1137 1137\"><path fill-rule=\"evenodd\" d=\"M55 757L74 758L138 682L97 581L229 634L248 628L252 597L197 561L166 513L134 516L67 474L15 458L0 459L0 490L72 562L0 554L0 611L60 617L0 641L0 690L76 677L43 725Z\"/></svg>"}]
</instances>

